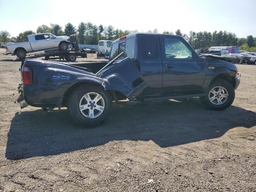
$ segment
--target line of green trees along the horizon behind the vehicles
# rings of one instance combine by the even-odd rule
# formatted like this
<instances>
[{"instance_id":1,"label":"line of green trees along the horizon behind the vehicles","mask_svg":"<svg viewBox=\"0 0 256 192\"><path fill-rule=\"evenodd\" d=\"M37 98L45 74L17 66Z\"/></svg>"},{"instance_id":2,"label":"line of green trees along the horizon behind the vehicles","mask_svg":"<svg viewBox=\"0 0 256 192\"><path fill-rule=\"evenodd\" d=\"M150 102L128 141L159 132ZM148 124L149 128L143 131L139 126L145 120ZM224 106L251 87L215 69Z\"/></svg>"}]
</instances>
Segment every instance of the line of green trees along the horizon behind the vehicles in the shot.
<instances>
[{"instance_id":1,"label":"line of green trees along the horizon behind the vehicles","mask_svg":"<svg viewBox=\"0 0 256 192\"><path fill-rule=\"evenodd\" d=\"M20 33L16 37L10 37L10 33L7 31L0 31L1 42L24 42L27 41L27 36L30 34L39 33L52 33L56 36L70 36L71 34L77 34L77 39L80 44L98 44L99 40L115 40L121 36L138 32L138 30L120 30L114 29L113 26L96 26L91 22L80 22L78 27L67 23L62 29L59 24L50 24L38 26L36 32L27 30ZM157 29L148 30L147 33L159 33ZM197 48L209 48L211 46L238 46L240 50L247 50L256 52L256 38L252 35L246 38L237 38L236 34L227 31L190 31L189 34L183 34L180 29L175 32L164 31L163 34L176 34L184 37L189 44Z\"/></svg>"}]
</instances>

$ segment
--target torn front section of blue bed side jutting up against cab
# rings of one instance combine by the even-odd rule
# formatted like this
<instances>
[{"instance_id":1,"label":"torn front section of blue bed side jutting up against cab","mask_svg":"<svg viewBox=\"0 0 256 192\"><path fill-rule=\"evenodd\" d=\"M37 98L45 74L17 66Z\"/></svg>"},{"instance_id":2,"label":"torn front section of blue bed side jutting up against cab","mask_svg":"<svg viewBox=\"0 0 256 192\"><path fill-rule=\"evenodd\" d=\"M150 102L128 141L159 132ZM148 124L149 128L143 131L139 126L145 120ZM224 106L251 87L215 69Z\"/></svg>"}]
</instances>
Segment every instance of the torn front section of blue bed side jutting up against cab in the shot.
<instances>
[{"instance_id":1,"label":"torn front section of blue bed side jutting up against cab","mask_svg":"<svg viewBox=\"0 0 256 192\"><path fill-rule=\"evenodd\" d=\"M129 100L138 97L148 88L148 82L142 80L140 71L128 57L102 71L99 76L104 79L106 90L121 92Z\"/></svg>"}]
</instances>

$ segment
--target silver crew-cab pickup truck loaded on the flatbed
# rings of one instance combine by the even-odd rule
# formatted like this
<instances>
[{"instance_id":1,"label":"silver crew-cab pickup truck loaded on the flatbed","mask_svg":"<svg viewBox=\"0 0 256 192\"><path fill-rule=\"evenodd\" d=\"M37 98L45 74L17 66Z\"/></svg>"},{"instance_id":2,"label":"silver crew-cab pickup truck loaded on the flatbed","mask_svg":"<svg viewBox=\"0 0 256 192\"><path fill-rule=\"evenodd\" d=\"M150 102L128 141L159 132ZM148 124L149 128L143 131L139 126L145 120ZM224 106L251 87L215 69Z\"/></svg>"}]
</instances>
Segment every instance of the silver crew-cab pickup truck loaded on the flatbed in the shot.
<instances>
[{"instance_id":1,"label":"silver crew-cab pickup truck loaded on the flatbed","mask_svg":"<svg viewBox=\"0 0 256 192\"><path fill-rule=\"evenodd\" d=\"M50 33L41 33L28 36L28 42L6 44L5 54L16 55L18 58L25 58L29 52L60 48L64 51L68 49L69 36L55 36Z\"/></svg>"}]
</instances>

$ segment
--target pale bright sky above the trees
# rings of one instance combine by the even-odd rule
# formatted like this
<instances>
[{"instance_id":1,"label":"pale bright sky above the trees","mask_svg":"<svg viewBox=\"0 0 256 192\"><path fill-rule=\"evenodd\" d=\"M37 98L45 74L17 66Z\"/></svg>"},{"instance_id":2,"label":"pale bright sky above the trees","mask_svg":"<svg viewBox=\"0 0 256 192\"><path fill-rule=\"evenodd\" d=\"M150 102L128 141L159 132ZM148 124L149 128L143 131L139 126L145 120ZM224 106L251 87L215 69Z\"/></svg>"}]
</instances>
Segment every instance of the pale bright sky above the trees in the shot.
<instances>
[{"instance_id":1,"label":"pale bright sky above the trees","mask_svg":"<svg viewBox=\"0 0 256 192\"><path fill-rule=\"evenodd\" d=\"M11 36L42 24L64 30L68 22L92 22L139 32L226 30L256 37L256 0L0 0L0 18L0 30Z\"/></svg>"}]
</instances>

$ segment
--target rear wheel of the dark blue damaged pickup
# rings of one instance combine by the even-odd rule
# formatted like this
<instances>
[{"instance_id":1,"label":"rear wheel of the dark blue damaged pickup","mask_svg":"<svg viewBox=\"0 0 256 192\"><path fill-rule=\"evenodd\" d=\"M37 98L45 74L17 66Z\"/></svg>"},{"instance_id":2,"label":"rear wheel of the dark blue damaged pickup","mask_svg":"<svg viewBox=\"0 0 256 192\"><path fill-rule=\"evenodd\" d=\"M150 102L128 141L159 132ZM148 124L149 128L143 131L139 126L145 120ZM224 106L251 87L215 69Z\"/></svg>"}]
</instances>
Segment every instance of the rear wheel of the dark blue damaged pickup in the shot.
<instances>
[{"instance_id":1,"label":"rear wheel of the dark blue damaged pickup","mask_svg":"<svg viewBox=\"0 0 256 192\"><path fill-rule=\"evenodd\" d=\"M94 99L97 95L100 99L95 101ZM96 103L93 104L93 102ZM112 107L112 97L108 91L105 91L100 86L84 84L78 87L69 97L67 107L70 116L78 124L82 126L97 126L109 116ZM97 110L97 108L100 110Z\"/></svg>"}]
</instances>

